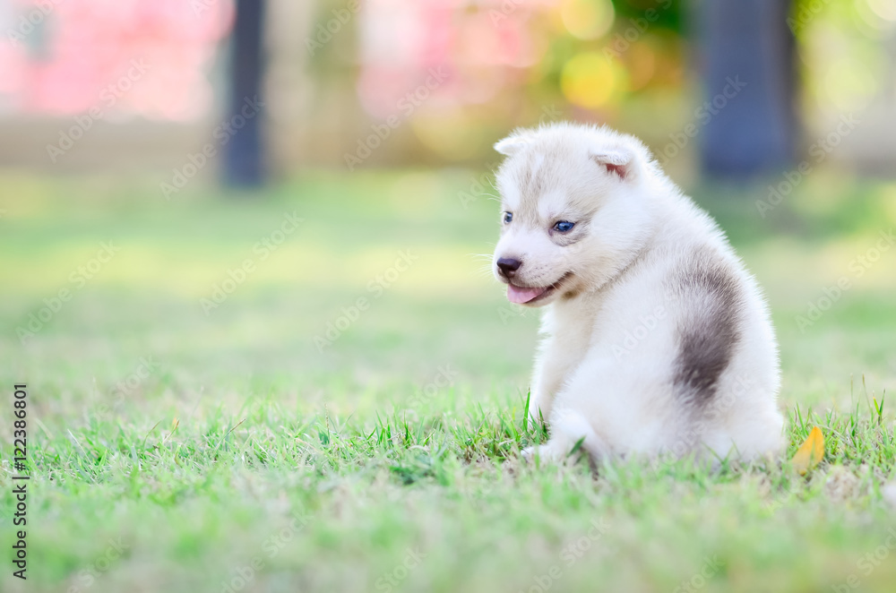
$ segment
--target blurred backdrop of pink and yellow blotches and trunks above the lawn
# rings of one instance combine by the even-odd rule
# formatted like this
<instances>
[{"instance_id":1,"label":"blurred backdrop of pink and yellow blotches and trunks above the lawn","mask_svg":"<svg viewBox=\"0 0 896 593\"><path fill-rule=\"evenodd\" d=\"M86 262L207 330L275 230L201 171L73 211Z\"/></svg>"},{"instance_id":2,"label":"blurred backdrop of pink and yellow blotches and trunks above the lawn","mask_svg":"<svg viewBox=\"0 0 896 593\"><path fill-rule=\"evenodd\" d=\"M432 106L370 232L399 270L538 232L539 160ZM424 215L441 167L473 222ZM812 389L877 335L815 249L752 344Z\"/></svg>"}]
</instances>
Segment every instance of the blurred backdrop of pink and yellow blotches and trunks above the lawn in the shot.
<instances>
[{"instance_id":1,"label":"blurred backdrop of pink and yellow blotches and trunks above the lawn","mask_svg":"<svg viewBox=\"0 0 896 593\"><path fill-rule=\"evenodd\" d=\"M641 136L693 182L780 174L842 116L861 125L831 162L887 173L896 157L889 0L238 4L0 2L0 163L164 180L211 142L211 179L230 151L249 181L482 167L513 127L574 119ZM255 97L245 132L220 129Z\"/></svg>"}]
</instances>

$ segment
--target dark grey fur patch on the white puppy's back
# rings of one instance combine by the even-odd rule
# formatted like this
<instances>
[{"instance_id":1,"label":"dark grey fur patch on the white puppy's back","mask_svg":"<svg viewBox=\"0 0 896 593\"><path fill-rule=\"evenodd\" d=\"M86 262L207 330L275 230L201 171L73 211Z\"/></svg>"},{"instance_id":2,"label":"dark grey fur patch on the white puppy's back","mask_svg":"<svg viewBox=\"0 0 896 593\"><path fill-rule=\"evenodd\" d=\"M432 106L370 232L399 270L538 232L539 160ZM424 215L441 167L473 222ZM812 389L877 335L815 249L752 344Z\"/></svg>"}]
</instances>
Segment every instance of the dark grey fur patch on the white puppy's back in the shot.
<instances>
[{"instance_id":1,"label":"dark grey fur patch on the white puppy's back","mask_svg":"<svg viewBox=\"0 0 896 593\"><path fill-rule=\"evenodd\" d=\"M719 388L740 340L743 295L737 277L709 248L698 250L670 279L673 295L689 305L676 331L673 389L686 405L703 409Z\"/></svg>"}]
</instances>

